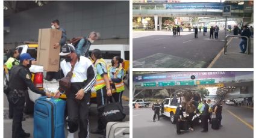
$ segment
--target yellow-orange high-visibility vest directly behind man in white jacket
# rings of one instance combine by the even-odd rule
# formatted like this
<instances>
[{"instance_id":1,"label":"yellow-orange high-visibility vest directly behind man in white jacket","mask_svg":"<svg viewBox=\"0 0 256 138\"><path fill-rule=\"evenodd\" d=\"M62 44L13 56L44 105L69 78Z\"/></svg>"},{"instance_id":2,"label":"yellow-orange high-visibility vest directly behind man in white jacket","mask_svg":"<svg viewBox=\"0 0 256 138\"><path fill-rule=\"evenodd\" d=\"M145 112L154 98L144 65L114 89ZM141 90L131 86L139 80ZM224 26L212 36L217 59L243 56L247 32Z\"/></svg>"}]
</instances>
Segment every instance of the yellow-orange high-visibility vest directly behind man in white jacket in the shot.
<instances>
[{"instance_id":1,"label":"yellow-orange high-visibility vest directly behind man in white jacket","mask_svg":"<svg viewBox=\"0 0 256 138\"><path fill-rule=\"evenodd\" d=\"M105 65L106 70L107 70L107 64L106 64L106 62L104 61L104 59L102 59L102 58L101 58L101 59L98 59L98 60L95 62L94 67L96 68L97 64L99 64L99 63ZM105 83L103 77L101 77L101 74L97 73L97 76L96 76L96 83L95 83L95 85L94 85L95 90L98 91L99 89L103 88L104 86L106 86L106 83Z\"/></svg>"}]
</instances>

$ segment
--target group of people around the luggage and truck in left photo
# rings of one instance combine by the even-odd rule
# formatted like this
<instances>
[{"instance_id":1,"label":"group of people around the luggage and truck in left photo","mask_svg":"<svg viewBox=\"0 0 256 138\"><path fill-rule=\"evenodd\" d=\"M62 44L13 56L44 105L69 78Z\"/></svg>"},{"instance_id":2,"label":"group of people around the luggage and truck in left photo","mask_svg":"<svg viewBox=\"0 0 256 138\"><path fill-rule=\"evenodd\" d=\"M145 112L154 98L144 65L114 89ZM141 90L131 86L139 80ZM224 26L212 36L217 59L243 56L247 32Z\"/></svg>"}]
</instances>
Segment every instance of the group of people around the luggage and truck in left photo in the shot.
<instances>
[{"instance_id":1,"label":"group of people around the luggage and truck in left photo","mask_svg":"<svg viewBox=\"0 0 256 138\"><path fill-rule=\"evenodd\" d=\"M61 40L54 44L54 48L60 46L59 55L63 58L60 62L60 79L66 77L69 71L73 72L70 80L70 91L66 92L59 88L54 97L60 97L65 92L67 98L67 137L73 138L78 130L78 137L89 137L89 106L90 96L93 88L96 90L96 100L98 107L107 104L105 101L112 96L114 101L122 104L122 93L125 90L123 78L125 71L121 63L123 59L114 56L111 65L108 66L102 57L101 50L94 49L89 56L90 45L99 37L98 32L91 32L88 37L82 38L78 46L66 43L66 31L60 28L60 22L51 22L52 29L62 31ZM29 68L36 59L29 53L22 53L17 50L10 52L10 58L6 62L10 79L8 81L8 101L10 103L10 117L13 118L12 137L30 137L30 133L25 133L22 129L23 109L25 106L25 93L28 88L37 94L52 95L48 91L43 91L34 86L31 80ZM49 72L46 79L52 80L53 73ZM98 127L91 133L104 134L105 124L98 119Z\"/></svg>"}]
</instances>

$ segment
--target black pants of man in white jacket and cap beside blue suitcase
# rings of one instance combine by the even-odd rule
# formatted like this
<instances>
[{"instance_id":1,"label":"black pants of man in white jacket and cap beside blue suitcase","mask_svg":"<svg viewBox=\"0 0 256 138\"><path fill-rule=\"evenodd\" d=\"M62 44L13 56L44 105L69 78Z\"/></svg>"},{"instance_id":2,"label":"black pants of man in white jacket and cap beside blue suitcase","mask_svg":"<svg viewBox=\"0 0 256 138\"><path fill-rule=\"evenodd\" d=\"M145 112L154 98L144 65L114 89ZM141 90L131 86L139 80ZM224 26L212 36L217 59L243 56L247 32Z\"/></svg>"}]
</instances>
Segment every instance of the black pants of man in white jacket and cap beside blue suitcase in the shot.
<instances>
[{"instance_id":1,"label":"black pants of man in white jacket and cap beside blue suitcase","mask_svg":"<svg viewBox=\"0 0 256 138\"><path fill-rule=\"evenodd\" d=\"M77 100L74 97L67 97L67 114L69 119L67 125L70 133L74 133L80 127L78 137L89 136L89 106L90 106L90 91L84 94L82 100Z\"/></svg>"}]
</instances>

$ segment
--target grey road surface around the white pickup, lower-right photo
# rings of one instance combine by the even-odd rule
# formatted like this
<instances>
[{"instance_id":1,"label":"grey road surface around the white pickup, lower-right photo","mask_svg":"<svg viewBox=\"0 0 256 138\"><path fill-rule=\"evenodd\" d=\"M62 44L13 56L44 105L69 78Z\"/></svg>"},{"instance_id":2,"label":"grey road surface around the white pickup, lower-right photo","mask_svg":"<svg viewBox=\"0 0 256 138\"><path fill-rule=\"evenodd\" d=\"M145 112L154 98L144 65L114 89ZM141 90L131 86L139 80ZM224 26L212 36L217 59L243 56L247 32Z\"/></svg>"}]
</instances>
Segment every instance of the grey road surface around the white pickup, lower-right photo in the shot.
<instances>
[{"instance_id":1,"label":"grey road surface around the white pickup, lower-right photo","mask_svg":"<svg viewBox=\"0 0 256 138\"><path fill-rule=\"evenodd\" d=\"M239 117L235 117L234 115ZM133 109L133 137L157 137L157 138L215 138L215 137L248 137L252 138L254 135L253 129L253 109L244 107L223 106L222 125L219 130L211 129L208 125L208 133L201 133L202 127L195 126L195 131L185 131L182 135L176 134L176 125L170 123L169 118L161 117L160 121L153 122L154 112L151 107ZM245 123L252 125L248 127Z\"/></svg>"}]
</instances>

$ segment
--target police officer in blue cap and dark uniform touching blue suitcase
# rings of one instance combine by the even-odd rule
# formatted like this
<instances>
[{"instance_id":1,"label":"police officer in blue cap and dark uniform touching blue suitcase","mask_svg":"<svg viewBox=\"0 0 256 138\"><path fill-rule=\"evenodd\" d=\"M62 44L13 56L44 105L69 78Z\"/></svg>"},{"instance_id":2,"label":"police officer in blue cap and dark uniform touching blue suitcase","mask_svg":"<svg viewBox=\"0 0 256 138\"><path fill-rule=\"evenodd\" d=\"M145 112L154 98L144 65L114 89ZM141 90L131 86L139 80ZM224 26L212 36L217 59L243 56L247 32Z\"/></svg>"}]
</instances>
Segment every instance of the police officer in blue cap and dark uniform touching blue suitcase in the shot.
<instances>
[{"instance_id":1,"label":"police officer in blue cap and dark uniform touching blue suitcase","mask_svg":"<svg viewBox=\"0 0 256 138\"><path fill-rule=\"evenodd\" d=\"M20 55L20 64L14 65L13 68L11 68L10 70L10 91L8 93L8 100L13 106L14 112L12 128L13 138L30 137L30 133L25 133L25 131L22 129L25 92L28 91L28 88L30 88L31 91L36 92L37 94L47 95L48 97L51 96L49 92L37 89L31 81L31 73L28 68L30 68L30 61L34 60L35 59L31 58L30 54L23 53L22 55Z\"/></svg>"}]
</instances>

